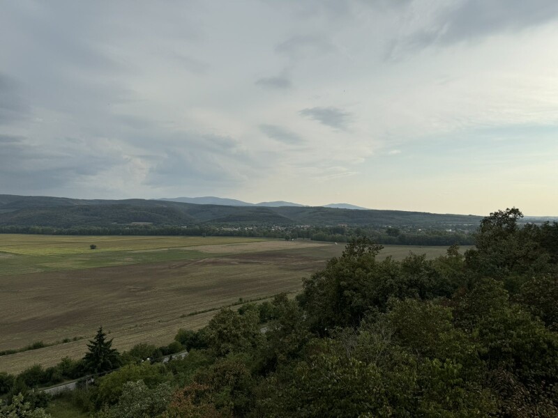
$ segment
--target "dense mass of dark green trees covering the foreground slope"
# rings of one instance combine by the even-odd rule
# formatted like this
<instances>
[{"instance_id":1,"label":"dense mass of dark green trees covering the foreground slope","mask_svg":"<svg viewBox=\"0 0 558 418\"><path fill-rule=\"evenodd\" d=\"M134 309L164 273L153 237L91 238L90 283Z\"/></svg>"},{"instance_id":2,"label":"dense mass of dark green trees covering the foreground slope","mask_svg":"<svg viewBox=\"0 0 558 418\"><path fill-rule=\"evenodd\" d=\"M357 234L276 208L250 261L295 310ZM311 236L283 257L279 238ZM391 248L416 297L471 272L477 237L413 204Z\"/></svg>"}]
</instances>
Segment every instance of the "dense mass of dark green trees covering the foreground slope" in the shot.
<instances>
[{"instance_id":1,"label":"dense mass of dark green trees covering the foreground slope","mask_svg":"<svg viewBox=\"0 0 558 418\"><path fill-rule=\"evenodd\" d=\"M97 418L558 417L558 224L521 216L490 214L473 249L434 260L353 240L296 299L180 330L183 359L112 351L128 364L66 399Z\"/></svg>"}]
</instances>

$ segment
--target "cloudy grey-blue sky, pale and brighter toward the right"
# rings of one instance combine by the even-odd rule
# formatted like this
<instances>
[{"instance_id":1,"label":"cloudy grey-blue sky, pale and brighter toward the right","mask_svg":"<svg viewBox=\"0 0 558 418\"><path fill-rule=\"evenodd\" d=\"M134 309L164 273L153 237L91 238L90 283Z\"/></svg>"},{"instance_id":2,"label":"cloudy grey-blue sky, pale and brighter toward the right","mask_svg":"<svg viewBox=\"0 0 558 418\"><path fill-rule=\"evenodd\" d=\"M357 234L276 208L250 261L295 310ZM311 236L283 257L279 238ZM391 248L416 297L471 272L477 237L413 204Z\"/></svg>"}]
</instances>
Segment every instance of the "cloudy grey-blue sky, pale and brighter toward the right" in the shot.
<instances>
[{"instance_id":1,"label":"cloudy grey-blue sky, pale and brighter toward the right","mask_svg":"<svg viewBox=\"0 0 558 418\"><path fill-rule=\"evenodd\" d=\"M556 0L0 3L0 194L558 215Z\"/></svg>"}]
</instances>

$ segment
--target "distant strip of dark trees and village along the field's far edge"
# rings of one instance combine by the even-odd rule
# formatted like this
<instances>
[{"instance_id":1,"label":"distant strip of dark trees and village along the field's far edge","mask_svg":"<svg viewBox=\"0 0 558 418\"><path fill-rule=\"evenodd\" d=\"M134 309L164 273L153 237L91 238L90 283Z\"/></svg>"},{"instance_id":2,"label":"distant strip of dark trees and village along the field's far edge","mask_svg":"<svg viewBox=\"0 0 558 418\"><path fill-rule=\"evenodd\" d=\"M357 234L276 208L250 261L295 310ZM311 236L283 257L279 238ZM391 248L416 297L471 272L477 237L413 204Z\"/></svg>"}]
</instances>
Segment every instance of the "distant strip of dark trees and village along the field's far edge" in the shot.
<instances>
[{"instance_id":1,"label":"distant strip of dark trees and village along the field's far edge","mask_svg":"<svg viewBox=\"0 0 558 418\"><path fill-rule=\"evenodd\" d=\"M0 233L43 235L184 235L236 236L252 238L306 239L327 242L349 242L359 236L384 245L473 245L472 233L464 226L446 229L361 227L361 226L76 226L69 229L52 226L0 226Z\"/></svg>"}]
</instances>

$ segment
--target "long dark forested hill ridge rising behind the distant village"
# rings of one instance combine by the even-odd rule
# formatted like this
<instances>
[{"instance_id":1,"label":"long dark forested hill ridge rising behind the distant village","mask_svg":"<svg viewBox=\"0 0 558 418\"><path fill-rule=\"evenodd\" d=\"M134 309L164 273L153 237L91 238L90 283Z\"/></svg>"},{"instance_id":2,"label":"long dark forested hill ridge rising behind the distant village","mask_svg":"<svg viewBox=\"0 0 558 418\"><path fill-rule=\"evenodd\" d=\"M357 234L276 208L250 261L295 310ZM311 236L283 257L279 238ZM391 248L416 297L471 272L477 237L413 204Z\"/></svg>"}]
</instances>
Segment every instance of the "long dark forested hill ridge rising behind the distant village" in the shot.
<instances>
[{"instance_id":1,"label":"long dark forested hill ridge rising behind the distant village","mask_svg":"<svg viewBox=\"0 0 558 418\"><path fill-rule=\"evenodd\" d=\"M445 228L478 224L481 219L474 215L441 215L402 210L347 210L321 206L223 206L165 200L88 200L0 194L1 226L53 226L70 229L76 226L126 226L142 222L172 226L347 224Z\"/></svg>"}]
</instances>

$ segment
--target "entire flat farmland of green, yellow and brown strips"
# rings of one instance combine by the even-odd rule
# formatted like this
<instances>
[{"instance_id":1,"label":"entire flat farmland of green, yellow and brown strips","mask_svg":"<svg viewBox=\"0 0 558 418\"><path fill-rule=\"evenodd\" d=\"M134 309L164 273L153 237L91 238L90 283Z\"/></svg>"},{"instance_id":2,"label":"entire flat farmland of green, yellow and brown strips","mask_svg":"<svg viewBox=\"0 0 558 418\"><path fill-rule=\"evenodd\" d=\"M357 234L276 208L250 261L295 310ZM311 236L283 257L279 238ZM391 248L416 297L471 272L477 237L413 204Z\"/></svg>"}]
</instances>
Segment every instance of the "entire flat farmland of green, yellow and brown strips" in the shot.
<instances>
[{"instance_id":1,"label":"entire flat farmland of green, yellow and brown strips","mask_svg":"<svg viewBox=\"0 0 558 418\"><path fill-rule=\"evenodd\" d=\"M119 350L167 344L225 305L294 295L342 249L306 240L0 235L0 351L53 344L0 356L0 371L82 357L100 325ZM386 246L381 256L409 251L435 257L446 248Z\"/></svg>"}]
</instances>

